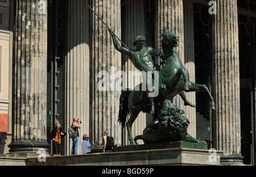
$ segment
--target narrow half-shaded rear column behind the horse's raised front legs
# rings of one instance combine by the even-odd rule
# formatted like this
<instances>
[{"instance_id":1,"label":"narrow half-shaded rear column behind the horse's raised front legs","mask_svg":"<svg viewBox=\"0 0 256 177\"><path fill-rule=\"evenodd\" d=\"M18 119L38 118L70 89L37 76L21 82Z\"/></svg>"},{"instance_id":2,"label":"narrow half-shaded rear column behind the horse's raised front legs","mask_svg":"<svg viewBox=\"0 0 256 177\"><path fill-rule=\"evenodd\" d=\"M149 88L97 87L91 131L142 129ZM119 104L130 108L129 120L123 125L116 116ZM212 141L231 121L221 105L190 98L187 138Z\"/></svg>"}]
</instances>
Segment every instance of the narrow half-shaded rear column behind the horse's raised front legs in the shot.
<instances>
[{"instance_id":1,"label":"narrow half-shaded rear column behind the horse's raised front legs","mask_svg":"<svg viewBox=\"0 0 256 177\"><path fill-rule=\"evenodd\" d=\"M193 2L184 2L186 9L193 9ZM190 81L196 82L194 18L191 11L184 13L184 67L188 70ZM196 105L196 92L187 92L185 94L189 102ZM190 121L188 133L196 138L196 108L186 106L184 111Z\"/></svg>"}]
</instances>

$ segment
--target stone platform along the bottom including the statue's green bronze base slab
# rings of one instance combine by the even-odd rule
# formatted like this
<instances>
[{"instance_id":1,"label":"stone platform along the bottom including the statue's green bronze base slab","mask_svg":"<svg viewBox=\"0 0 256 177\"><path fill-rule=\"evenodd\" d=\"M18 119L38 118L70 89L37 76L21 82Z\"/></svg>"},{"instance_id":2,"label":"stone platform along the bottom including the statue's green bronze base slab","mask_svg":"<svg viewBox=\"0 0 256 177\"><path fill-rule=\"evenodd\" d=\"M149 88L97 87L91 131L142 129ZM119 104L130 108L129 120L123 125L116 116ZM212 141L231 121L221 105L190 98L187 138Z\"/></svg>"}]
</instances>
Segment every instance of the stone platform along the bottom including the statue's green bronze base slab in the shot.
<instances>
[{"instance_id":1,"label":"stone platform along the bottom including the statue's green bronze base slab","mask_svg":"<svg viewBox=\"0 0 256 177\"><path fill-rule=\"evenodd\" d=\"M157 149L158 148L158 149ZM183 141L166 144L128 145L118 147L114 153L93 153L82 155L46 155L39 162L37 156L19 157L9 154L0 155L0 165L13 165L14 162L28 166L144 166L144 165L220 165L222 151L207 150L202 144L191 144ZM14 155L12 157L12 155ZM42 155L42 154L41 154Z\"/></svg>"}]
</instances>

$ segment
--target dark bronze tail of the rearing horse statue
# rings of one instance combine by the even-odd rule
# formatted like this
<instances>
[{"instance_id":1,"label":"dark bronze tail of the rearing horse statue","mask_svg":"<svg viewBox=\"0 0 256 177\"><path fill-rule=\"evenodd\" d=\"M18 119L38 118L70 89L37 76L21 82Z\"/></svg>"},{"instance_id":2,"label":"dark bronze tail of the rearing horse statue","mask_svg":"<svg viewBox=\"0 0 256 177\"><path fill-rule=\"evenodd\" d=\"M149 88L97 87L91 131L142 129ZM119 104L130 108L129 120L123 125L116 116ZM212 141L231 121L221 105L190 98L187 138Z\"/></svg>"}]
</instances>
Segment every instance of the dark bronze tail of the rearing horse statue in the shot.
<instances>
[{"instance_id":1,"label":"dark bronze tail of the rearing horse statue","mask_svg":"<svg viewBox=\"0 0 256 177\"><path fill-rule=\"evenodd\" d=\"M118 115L118 122L122 124L122 127L125 127L126 117L129 113L128 107L128 98L131 94L131 90L122 90L119 99L119 115Z\"/></svg>"}]
</instances>

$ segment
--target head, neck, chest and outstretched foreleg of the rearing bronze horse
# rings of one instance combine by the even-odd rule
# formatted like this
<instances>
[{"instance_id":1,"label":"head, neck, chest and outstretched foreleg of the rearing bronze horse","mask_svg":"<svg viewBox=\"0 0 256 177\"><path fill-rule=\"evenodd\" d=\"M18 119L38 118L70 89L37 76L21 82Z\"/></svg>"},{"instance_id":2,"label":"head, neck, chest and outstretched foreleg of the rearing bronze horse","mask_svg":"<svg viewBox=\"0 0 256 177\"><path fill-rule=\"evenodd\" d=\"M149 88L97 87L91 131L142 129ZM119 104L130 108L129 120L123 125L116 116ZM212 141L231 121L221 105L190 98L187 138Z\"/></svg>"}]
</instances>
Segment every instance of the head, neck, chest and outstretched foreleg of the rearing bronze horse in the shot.
<instances>
[{"instance_id":1,"label":"head, neck, chest and outstretched foreleg of the rearing bronze horse","mask_svg":"<svg viewBox=\"0 0 256 177\"><path fill-rule=\"evenodd\" d=\"M215 109L215 103L209 89L206 85L200 85L189 81L188 70L184 68L180 61L179 54L175 51L179 37L168 30L162 35L162 46L160 47L160 72L159 72L159 85L166 85L170 90L171 99L182 91L205 91L209 96L209 106Z\"/></svg>"}]
</instances>

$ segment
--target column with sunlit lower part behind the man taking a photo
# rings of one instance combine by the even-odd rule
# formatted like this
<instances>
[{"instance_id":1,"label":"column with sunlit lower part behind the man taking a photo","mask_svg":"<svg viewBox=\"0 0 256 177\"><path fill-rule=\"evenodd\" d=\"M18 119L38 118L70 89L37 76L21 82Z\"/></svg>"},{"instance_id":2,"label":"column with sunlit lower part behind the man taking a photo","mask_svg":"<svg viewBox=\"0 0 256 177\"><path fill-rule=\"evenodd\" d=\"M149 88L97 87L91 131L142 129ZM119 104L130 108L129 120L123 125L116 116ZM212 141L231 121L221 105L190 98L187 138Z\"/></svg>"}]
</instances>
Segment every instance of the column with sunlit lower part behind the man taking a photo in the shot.
<instances>
[{"instance_id":1,"label":"column with sunlit lower part behind the man taking a photo","mask_svg":"<svg viewBox=\"0 0 256 177\"><path fill-rule=\"evenodd\" d=\"M66 130L73 123L73 117L82 118L79 130L80 142L83 134L89 134L89 0L68 0L67 40L65 56L65 116ZM72 140L67 140L67 154L71 153ZM79 146L80 148L80 146ZM79 149L80 151L80 149Z\"/></svg>"}]
</instances>

